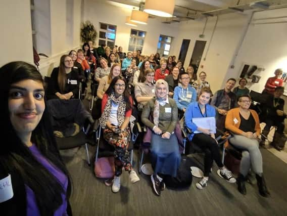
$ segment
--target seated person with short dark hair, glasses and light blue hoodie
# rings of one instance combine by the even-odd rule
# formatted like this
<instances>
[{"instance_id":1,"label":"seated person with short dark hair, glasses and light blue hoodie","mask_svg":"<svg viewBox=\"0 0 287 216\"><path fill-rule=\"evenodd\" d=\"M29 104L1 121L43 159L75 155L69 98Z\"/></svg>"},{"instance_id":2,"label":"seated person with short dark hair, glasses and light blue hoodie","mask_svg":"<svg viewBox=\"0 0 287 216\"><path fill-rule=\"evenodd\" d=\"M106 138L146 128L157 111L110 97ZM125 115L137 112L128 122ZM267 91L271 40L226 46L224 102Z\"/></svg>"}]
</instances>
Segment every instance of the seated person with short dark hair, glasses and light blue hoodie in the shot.
<instances>
[{"instance_id":1,"label":"seated person with short dark hair, glasses and light blue hoodie","mask_svg":"<svg viewBox=\"0 0 287 216\"><path fill-rule=\"evenodd\" d=\"M173 100L175 100L177 108L184 113L187 106L197 100L197 92L189 84L188 73L180 73L178 77L180 83L174 89Z\"/></svg>"}]
</instances>

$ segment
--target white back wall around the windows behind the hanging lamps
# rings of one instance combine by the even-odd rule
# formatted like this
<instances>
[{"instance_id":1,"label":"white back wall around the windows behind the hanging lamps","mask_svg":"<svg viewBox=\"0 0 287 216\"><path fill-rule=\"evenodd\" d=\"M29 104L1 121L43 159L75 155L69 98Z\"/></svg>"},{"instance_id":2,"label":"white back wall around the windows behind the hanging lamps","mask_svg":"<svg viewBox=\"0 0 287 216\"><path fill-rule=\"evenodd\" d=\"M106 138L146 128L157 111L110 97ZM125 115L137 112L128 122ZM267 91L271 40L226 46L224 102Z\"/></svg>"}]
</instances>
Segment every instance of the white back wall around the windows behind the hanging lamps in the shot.
<instances>
[{"instance_id":1,"label":"white back wall around the windows behind the hanging lamps","mask_svg":"<svg viewBox=\"0 0 287 216\"><path fill-rule=\"evenodd\" d=\"M84 1L84 20L90 20L99 32L99 22L113 24L117 26L116 45L123 47L124 51L128 50L130 29L146 31L145 43L143 44L143 55L156 53L157 44L160 34L177 37L177 24L163 24L160 20L149 19L148 25L138 24L137 27L125 24L126 16L130 16L131 10L115 7L106 4L105 1L85 0ZM98 33L99 36L99 33ZM98 45L99 38L97 38Z\"/></svg>"}]
</instances>

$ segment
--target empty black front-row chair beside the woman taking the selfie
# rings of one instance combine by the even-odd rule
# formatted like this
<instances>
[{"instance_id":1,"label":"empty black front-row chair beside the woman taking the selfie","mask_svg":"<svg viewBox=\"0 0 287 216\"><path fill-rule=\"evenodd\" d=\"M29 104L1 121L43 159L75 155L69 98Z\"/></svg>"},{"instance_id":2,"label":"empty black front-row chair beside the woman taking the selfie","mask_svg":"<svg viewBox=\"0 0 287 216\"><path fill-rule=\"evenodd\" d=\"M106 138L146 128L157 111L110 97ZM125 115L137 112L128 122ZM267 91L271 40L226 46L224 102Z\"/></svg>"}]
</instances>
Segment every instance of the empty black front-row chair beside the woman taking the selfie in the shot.
<instances>
[{"instance_id":1,"label":"empty black front-row chair beside the woman taking the selfie","mask_svg":"<svg viewBox=\"0 0 287 216\"><path fill-rule=\"evenodd\" d=\"M52 126L55 131L63 134L63 137L56 137L57 146L60 150L85 146L87 161L90 165L88 145L93 144L88 138L88 132L93 127L94 120L90 113L84 108L81 100L60 100L52 99L47 101L47 108L51 114ZM74 128L79 127L76 134ZM75 134L75 135L74 135ZM71 136L74 135L74 136Z\"/></svg>"}]
</instances>

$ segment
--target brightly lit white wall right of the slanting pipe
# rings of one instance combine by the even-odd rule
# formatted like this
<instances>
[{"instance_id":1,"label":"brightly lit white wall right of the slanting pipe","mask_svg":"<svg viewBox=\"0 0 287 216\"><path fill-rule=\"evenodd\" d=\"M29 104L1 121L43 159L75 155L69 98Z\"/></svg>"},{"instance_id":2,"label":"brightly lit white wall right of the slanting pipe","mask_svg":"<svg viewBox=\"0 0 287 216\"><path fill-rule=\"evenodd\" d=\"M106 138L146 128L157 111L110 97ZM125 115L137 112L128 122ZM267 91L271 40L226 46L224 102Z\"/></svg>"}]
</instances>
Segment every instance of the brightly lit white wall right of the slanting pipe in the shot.
<instances>
[{"instance_id":1,"label":"brightly lit white wall right of the slanting pipe","mask_svg":"<svg viewBox=\"0 0 287 216\"><path fill-rule=\"evenodd\" d=\"M287 9L257 12L254 18L286 16ZM260 22L287 21L287 19L261 20ZM258 21L259 22L259 21ZM234 69L228 73L239 77L243 64L257 65L265 68L255 71L254 75L261 76L258 83L250 83L250 89L262 92L268 77L274 76L277 68L287 72L287 23L250 25L241 49L235 60Z\"/></svg>"}]
</instances>

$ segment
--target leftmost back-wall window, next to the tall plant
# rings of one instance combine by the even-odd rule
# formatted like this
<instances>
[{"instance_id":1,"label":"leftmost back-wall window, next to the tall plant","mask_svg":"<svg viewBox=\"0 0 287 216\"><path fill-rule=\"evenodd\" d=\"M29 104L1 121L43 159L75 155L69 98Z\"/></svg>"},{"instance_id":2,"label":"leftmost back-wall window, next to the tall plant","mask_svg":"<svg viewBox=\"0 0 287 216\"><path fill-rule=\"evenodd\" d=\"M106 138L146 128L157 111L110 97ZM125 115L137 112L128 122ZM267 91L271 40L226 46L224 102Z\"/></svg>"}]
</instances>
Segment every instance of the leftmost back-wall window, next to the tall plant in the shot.
<instances>
[{"instance_id":1,"label":"leftmost back-wall window, next to the tall plant","mask_svg":"<svg viewBox=\"0 0 287 216\"><path fill-rule=\"evenodd\" d=\"M100 23L99 46L107 45L111 49L115 47L117 26Z\"/></svg>"}]
</instances>

